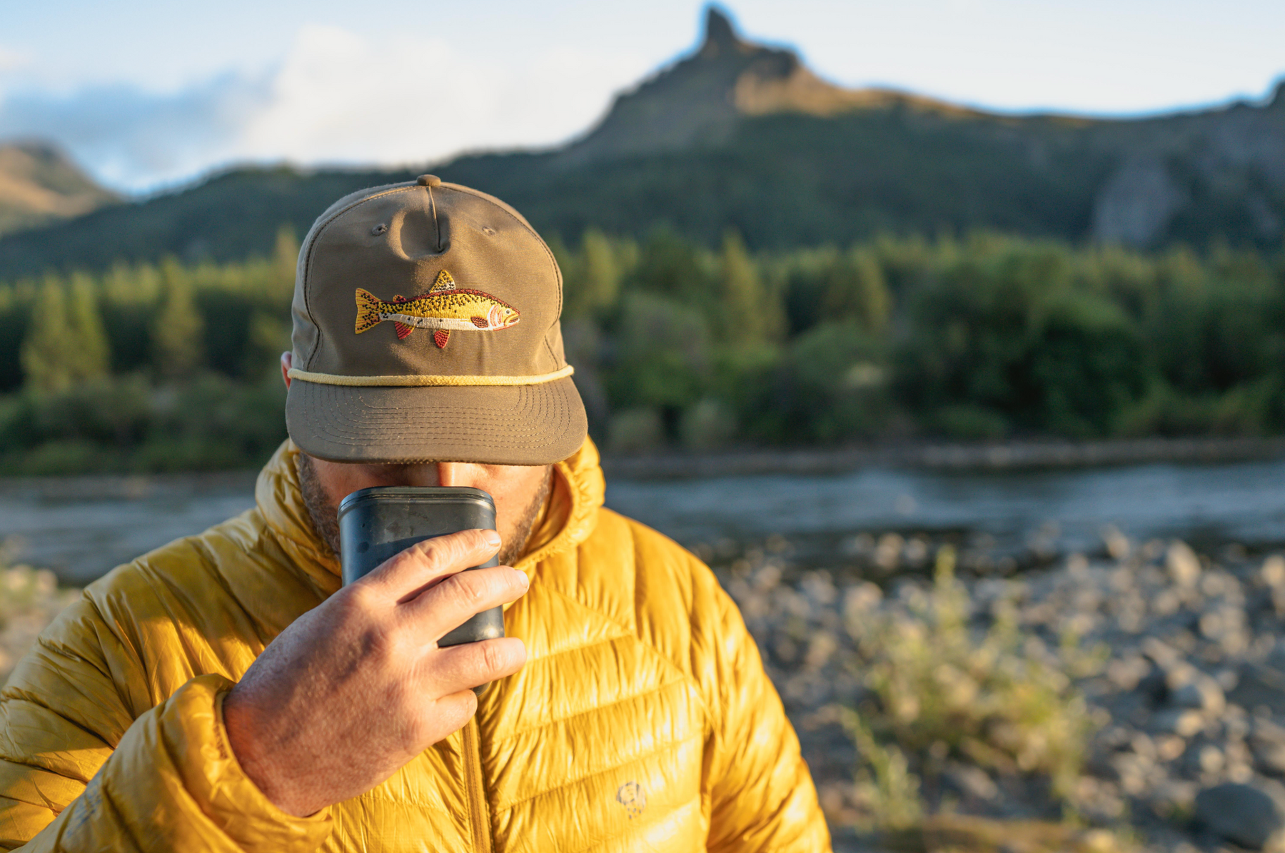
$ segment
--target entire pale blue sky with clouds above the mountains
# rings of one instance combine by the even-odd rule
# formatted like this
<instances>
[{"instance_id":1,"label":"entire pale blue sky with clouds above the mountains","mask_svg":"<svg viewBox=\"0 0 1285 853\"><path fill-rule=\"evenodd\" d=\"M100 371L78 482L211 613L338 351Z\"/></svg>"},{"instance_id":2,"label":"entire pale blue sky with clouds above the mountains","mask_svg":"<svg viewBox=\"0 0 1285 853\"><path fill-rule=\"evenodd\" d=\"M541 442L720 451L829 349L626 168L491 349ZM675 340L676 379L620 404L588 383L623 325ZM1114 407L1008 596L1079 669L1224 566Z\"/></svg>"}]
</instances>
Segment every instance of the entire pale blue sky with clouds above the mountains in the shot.
<instances>
[{"instance_id":1,"label":"entire pale blue sky with clouds above the mountains","mask_svg":"<svg viewBox=\"0 0 1285 853\"><path fill-rule=\"evenodd\" d=\"M729 0L848 86L1130 116L1285 78L1280 0ZM0 0L0 141L132 194L244 162L430 164L589 130L691 50L703 4Z\"/></svg>"}]
</instances>

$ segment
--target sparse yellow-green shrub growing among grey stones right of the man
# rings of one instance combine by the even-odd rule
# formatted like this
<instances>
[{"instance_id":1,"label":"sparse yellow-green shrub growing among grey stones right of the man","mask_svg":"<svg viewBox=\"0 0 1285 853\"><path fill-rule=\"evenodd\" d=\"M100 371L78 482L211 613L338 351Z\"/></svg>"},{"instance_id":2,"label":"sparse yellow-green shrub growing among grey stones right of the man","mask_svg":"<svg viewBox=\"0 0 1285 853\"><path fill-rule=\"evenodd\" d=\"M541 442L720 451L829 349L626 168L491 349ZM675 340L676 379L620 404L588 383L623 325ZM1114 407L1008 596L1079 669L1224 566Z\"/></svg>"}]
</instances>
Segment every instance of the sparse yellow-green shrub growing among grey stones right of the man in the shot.
<instances>
[{"instance_id":1,"label":"sparse yellow-green shrub growing among grey stones right of the man","mask_svg":"<svg viewBox=\"0 0 1285 853\"><path fill-rule=\"evenodd\" d=\"M902 613L861 614L847 626L857 645L853 673L875 698L848 717L879 789L875 799L907 796L911 782L896 752L871 744L896 744L920 768L933 766L929 755L938 764L955 755L998 773L1046 777L1065 798L1092 730L1070 681L1103 658L1081 650L1074 637L1043 651L1019 633L1013 608L1002 604L988 629L971 628L971 605L953 569L955 552L943 546L930 592Z\"/></svg>"}]
</instances>

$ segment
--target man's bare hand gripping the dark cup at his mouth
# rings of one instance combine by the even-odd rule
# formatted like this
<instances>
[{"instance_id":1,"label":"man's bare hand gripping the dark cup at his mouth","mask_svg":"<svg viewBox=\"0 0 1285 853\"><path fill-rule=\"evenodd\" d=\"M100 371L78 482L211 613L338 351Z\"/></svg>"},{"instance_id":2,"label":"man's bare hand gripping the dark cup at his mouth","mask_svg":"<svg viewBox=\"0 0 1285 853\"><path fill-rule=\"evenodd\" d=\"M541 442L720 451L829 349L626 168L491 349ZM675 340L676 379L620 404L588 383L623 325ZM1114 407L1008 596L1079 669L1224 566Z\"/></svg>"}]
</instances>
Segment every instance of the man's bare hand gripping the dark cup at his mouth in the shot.
<instances>
[{"instance_id":1,"label":"man's bare hand gripping the dark cup at his mouth","mask_svg":"<svg viewBox=\"0 0 1285 853\"><path fill-rule=\"evenodd\" d=\"M495 531L414 545L299 617L224 700L233 752L290 814L364 794L477 710L472 687L527 659L515 637L438 649L469 617L513 601L527 577L463 572L500 547Z\"/></svg>"}]
</instances>

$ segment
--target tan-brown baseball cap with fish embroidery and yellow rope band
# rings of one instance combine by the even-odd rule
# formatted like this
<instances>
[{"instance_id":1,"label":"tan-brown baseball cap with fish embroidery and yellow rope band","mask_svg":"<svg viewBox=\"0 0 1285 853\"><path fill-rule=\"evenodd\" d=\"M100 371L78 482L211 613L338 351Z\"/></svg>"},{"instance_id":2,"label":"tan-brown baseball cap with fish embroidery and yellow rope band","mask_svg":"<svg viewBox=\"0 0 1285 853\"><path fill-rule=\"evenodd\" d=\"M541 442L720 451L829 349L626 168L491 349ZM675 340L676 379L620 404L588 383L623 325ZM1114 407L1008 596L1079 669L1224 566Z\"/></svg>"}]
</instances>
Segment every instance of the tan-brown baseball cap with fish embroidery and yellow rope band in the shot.
<instances>
[{"instance_id":1,"label":"tan-brown baseball cap with fish embroidery and yellow rope band","mask_svg":"<svg viewBox=\"0 0 1285 853\"><path fill-rule=\"evenodd\" d=\"M585 441L562 272L511 207L423 175L303 240L285 424L320 459L546 465Z\"/></svg>"}]
</instances>

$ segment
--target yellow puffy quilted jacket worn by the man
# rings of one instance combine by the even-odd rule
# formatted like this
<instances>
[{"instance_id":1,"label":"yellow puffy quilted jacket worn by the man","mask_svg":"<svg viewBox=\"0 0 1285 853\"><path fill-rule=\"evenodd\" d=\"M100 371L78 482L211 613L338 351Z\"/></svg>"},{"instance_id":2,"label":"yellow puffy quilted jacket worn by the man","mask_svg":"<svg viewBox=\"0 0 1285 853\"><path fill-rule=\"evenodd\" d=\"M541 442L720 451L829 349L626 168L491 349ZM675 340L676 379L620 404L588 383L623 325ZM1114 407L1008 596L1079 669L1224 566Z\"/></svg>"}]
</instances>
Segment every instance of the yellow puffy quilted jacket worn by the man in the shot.
<instances>
[{"instance_id":1,"label":"yellow puffy quilted jacket worn by the man","mask_svg":"<svg viewBox=\"0 0 1285 853\"><path fill-rule=\"evenodd\" d=\"M221 698L339 587L284 444L257 509L91 585L3 692L0 848L816 850L798 739L708 568L603 509L591 443L558 465L505 613L528 660L468 726L297 818L247 778ZM24 845L24 847L23 847Z\"/></svg>"}]
</instances>

